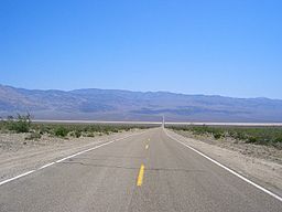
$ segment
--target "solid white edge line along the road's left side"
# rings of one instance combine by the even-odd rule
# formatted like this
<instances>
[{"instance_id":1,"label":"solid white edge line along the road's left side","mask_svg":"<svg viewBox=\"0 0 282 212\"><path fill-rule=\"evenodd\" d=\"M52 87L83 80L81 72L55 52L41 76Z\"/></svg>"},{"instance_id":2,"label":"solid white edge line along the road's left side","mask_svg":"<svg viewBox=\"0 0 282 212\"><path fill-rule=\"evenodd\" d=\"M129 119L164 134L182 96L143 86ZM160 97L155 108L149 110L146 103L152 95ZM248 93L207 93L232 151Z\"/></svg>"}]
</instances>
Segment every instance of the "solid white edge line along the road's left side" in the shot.
<instances>
[{"instance_id":1,"label":"solid white edge line along the road's left side","mask_svg":"<svg viewBox=\"0 0 282 212\"><path fill-rule=\"evenodd\" d=\"M79 155L82 155L82 153L85 153L85 152L88 152L88 151L98 149L98 148L100 148L100 147L110 145L110 144L112 144L112 142L115 142L115 141L122 140L122 139L127 139L127 138L129 138L129 137L137 136L137 135L141 135L141 134L144 134L144 132L145 132L145 131L142 131L142 132L139 132L139 134L132 134L132 135L129 135L129 136L126 136L126 137L122 137L122 138L113 139L113 140L111 140L111 141L108 141L108 142L100 141L100 142L104 142L104 144L98 145L98 146L95 146L95 147L91 147L91 148L86 149L86 150L83 150L83 151L79 151L79 152L77 152L77 153L67 156L67 157L65 157L65 158L62 158L62 159L59 159L59 160L56 160L55 162L50 162L50 163L47 163L47 165L44 165L44 166L40 167L39 169L34 169L34 170L31 170L31 171L21 173L21 174L19 174L19 176L15 176L15 177L13 177L13 178L3 180L3 181L0 182L0 186L6 184L6 183L8 183L8 182L11 182L11 181L13 181L13 180L17 180L17 179L19 179L19 178L22 178L22 177L24 177L24 176L28 176L28 174L30 174L30 173L33 173L33 172L35 172L35 171L39 171L39 170L45 169L45 168L47 168L47 167L51 167L52 165L55 165L55 163L58 163L58 162L63 162L64 160L67 160L67 159L69 159L69 158L74 158L74 157L79 156ZM97 145L97 144L100 144L100 142L96 142L96 145Z\"/></svg>"}]
</instances>

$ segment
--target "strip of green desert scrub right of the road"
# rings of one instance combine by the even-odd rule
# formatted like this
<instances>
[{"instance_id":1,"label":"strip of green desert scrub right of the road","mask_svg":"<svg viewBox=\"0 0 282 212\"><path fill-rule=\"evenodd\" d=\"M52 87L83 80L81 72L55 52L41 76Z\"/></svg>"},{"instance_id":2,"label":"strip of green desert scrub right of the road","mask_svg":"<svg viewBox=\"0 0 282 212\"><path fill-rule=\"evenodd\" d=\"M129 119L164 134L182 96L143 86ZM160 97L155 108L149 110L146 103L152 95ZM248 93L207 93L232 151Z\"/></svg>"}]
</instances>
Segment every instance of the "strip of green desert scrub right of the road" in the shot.
<instances>
[{"instance_id":1,"label":"strip of green desert scrub right of the road","mask_svg":"<svg viewBox=\"0 0 282 212\"><path fill-rule=\"evenodd\" d=\"M209 136L216 140L232 138L246 144L272 146L282 149L282 127L231 126L169 126L174 130L189 131L195 136Z\"/></svg>"}]
</instances>

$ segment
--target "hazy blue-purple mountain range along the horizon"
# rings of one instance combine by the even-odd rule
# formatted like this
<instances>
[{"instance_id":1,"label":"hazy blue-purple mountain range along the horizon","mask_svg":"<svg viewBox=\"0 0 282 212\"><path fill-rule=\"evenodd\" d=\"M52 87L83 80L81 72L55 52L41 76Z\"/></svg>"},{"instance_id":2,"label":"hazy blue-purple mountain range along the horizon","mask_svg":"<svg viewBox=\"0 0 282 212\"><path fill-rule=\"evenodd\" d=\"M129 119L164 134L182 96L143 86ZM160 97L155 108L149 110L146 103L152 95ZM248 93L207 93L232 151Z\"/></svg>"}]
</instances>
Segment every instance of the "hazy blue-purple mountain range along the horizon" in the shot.
<instances>
[{"instance_id":1,"label":"hazy blue-purple mountain range along the horizon","mask_svg":"<svg viewBox=\"0 0 282 212\"><path fill-rule=\"evenodd\" d=\"M282 100L119 89L39 91L0 85L0 116L36 119L282 121Z\"/></svg>"}]
</instances>

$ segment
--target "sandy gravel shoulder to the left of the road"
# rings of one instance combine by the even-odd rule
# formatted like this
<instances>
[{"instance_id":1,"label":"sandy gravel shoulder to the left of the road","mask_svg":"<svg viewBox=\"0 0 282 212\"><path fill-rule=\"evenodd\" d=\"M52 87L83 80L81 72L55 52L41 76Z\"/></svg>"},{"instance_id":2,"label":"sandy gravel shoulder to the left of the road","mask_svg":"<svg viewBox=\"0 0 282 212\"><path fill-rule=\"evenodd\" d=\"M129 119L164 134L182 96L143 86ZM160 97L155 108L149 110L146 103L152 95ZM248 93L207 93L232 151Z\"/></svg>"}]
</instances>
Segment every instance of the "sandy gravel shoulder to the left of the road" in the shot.
<instances>
[{"instance_id":1,"label":"sandy gravel shoulder to the left of the road","mask_svg":"<svg viewBox=\"0 0 282 212\"><path fill-rule=\"evenodd\" d=\"M91 148L98 142L107 142L138 131L142 130L80 138L42 136L39 140L25 140L24 134L0 134L0 181Z\"/></svg>"}]
</instances>

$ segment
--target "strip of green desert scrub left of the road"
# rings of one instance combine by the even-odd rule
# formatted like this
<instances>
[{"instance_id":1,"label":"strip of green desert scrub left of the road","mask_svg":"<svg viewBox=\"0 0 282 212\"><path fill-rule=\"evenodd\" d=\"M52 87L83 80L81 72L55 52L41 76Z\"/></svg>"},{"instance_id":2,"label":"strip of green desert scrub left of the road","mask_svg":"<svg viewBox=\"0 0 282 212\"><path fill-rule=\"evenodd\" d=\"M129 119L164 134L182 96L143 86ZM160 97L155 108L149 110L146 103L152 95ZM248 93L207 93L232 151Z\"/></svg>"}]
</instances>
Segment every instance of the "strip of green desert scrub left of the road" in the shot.
<instances>
[{"instance_id":1,"label":"strip of green desert scrub left of the road","mask_svg":"<svg viewBox=\"0 0 282 212\"><path fill-rule=\"evenodd\" d=\"M134 128L144 129L151 126L121 125L121 124L55 124L33 123L31 115L9 116L0 120L2 134L26 134L26 140L40 139L43 135L59 138L79 138L109 135L112 132L129 131Z\"/></svg>"}]
</instances>

